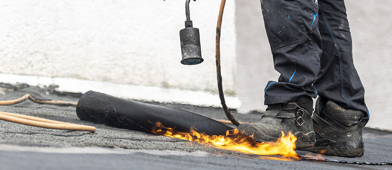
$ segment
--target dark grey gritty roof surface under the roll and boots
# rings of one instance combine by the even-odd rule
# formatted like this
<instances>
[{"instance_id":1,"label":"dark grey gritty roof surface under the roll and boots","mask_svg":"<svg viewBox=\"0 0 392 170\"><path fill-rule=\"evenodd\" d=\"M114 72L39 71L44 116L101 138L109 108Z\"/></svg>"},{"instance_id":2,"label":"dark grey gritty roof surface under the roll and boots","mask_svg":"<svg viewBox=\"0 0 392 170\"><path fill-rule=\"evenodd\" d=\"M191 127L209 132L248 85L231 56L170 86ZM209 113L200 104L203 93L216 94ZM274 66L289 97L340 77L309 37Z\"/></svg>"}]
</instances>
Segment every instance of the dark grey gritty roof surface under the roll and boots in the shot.
<instances>
[{"instance_id":1,"label":"dark grey gritty roof surface under the roll and boots","mask_svg":"<svg viewBox=\"0 0 392 170\"><path fill-rule=\"evenodd\" d=\"M0 100L24 94L65 101L78 101L77 94L62 94L52 87L0 84ZM149 102L147 102L149 103ZM226 119L219 108L170 103L151 103L189 110L214 119ZM0 170L5 169L392 169L390 165L350 165L321 161L257 159L233 150L144 132L107 127L78 119L75 107L40 105L25 101L0 106L0 111L25 114L97 128L94 133L52 130L0 121ZM260 113L232 114L239 121L257 122ZM392 162L392 133L365 128L365 155L357 158L323 156L358 162ZM310 154L298 151L299 154ZM319 156L311 154L312 156ZM270 156L279 157L279 156Z\"/></svg>"}]
</instances>

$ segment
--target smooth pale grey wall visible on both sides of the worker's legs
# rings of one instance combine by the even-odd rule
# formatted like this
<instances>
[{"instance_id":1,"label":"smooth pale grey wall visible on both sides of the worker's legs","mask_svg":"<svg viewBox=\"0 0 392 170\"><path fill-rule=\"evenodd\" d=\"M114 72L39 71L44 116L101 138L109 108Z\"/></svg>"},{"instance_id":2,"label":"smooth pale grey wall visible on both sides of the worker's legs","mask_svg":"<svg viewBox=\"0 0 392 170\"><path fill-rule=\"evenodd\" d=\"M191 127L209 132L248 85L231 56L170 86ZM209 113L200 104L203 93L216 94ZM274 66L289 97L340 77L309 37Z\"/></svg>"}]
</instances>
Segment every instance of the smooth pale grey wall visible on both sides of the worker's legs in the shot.
<instances>
[{"instance_id":1,"label":"smooth pale grey wall visible on both sides of the worker's legs","mask_svg":"<svg viewBox=\"0 0 392 170\"><path fill-rule=\"evenodd\" d=\"M392 130L392 9L390 1L346 0L354 64L365 87L368 127ZM264 110L264 88L277 81L265 34L260 0L236 1L237 86L241 112Z\"/></svg>"}]
</instances>

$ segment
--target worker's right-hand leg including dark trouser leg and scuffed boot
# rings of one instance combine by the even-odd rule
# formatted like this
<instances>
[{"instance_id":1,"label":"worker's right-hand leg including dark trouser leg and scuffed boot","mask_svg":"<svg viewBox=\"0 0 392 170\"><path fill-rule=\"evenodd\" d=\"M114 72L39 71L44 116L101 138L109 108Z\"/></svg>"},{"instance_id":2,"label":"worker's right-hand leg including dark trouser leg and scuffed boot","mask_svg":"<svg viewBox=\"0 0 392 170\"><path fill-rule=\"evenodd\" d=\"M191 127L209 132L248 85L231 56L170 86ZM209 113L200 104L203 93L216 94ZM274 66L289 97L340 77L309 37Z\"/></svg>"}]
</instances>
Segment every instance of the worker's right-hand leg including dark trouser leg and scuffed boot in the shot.
<instances>
[{"instance_id":1,"label":"worker's right-hand leg including dark trouser leg and scuffed boot","mask_svg":"<svg viewBox=\"0 0 392 170\"><path fill-rule=\"evenodd\" d=\"M343 0L318 0L321 69L313 85L320 96L313 114L316 144L324 155L362 156L362 128L368 121L361 80L354 68L352 40Z\"/></svg>"}]
</instances>

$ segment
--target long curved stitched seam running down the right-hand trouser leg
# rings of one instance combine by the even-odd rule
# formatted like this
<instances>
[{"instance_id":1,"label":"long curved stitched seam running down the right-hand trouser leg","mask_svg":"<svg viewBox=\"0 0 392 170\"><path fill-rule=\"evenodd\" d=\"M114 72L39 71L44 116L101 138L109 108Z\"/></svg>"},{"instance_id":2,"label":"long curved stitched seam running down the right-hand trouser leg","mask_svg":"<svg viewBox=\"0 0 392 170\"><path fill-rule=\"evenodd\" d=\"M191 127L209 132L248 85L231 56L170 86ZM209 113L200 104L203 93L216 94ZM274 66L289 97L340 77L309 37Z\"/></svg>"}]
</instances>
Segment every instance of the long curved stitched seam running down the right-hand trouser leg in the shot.
<instances>
[{"instance_id":1,"label":"long curved stitched seam running down the right-hand trouser leg","mask_svg":"<svg viewBox=\"0 0 392 170\"><path fill-rule=\"evenodd\" d=\"M321 6L321 4L319 4L319 5L320 5L321 16L323 16L323 19L324 19L325 24L327 25L329 34L330 34L332 40L334 41L336 51L338 52L339 70L340 70L340 91L341 91L341 96L346 101L347 106L350 107L351 106L350 101L348 101L348 99L345 97L345 94L344 94L345 91L344 91L343 61L342 61L342 56L341 56L341 53L340 53L340 50L339 50L339 45L338 45L338 42L336 42L334 33L332 33L332 29L331 29L331 27L330 27L330 25L328 23L327 16L324 13L323 7Z\"/></svg>"}]
</instances>

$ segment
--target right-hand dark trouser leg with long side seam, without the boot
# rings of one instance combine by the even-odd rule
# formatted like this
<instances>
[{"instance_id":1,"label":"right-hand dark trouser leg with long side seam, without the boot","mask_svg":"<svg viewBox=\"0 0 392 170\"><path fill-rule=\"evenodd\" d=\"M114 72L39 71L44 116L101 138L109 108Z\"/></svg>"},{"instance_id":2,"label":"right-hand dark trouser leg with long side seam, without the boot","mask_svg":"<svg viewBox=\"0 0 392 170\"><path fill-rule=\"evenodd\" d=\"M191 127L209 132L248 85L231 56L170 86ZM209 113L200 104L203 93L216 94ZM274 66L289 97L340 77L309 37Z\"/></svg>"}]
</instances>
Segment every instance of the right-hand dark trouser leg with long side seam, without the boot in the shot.
<instances>
[{"instance_id":1,"label":"right-hand dark trouser leg with long side seam, without the boot","mask_svg":"<svg viewBox=\"0 0 392 170\"><path fill-rule=\"evenodd\" d=\"M321 69L313 85L318 95L360 110L368 117L365 90L352 59L352 40L343 0L318 0L322 37Z\"/></svg>"}]
</instances>

